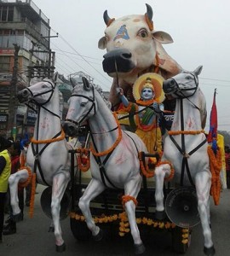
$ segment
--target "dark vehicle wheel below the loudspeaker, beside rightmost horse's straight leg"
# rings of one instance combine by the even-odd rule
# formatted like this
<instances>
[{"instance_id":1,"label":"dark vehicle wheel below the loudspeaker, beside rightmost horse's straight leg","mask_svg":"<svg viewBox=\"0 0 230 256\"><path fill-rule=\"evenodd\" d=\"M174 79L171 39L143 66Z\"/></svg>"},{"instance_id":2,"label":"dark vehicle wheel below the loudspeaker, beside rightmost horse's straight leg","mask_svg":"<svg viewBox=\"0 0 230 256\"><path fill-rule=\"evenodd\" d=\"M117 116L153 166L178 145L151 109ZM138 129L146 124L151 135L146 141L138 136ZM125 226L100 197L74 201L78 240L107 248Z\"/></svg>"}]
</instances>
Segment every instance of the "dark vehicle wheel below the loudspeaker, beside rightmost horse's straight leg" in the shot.
<instances>
[{"instance_id":1,"label":"dark vehicle wheel below the loudspeaker, beside rightmost horse's straight leg","mask_svg":"<svg viewBox=\"0 0 230 256\"><path fill-rule=\"evenodd\" d=\"M182 230L183 228L175 227L172 230L172 248L175 253L186 253L191 243L191 230L188 230L188 241L186 244L182 243Z\"/></svg>"}]
</instances>

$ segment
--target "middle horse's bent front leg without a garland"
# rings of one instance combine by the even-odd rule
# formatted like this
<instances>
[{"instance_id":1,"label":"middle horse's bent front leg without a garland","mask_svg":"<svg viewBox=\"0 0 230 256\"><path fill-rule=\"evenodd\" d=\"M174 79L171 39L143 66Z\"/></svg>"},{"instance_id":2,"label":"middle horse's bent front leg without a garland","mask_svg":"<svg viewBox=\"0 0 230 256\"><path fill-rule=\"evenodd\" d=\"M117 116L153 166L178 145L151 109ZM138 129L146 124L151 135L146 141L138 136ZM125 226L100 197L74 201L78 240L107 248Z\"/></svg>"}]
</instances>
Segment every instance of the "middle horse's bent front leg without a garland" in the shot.
<instances>
[{"instance_id":1,"label":"middle horse's bent front leg without a garland","mask_svg":"<svg viewBox=\"0 0 230 256\"><path fill-rule=\"evenodd\" d=\"M92 178L89 185L85 189L83 196L80 198L78 206L83 212L83 216L85 218L85 222L92 232L94 239L96 241L101 240L101 230L98 226L95 225L95 222L92 218L92 214L89 209L89 203L92 201L97 195L100 195L101 192L105 189L105 186L101 183L101 181Z\"/></svg>"}]
</instances>

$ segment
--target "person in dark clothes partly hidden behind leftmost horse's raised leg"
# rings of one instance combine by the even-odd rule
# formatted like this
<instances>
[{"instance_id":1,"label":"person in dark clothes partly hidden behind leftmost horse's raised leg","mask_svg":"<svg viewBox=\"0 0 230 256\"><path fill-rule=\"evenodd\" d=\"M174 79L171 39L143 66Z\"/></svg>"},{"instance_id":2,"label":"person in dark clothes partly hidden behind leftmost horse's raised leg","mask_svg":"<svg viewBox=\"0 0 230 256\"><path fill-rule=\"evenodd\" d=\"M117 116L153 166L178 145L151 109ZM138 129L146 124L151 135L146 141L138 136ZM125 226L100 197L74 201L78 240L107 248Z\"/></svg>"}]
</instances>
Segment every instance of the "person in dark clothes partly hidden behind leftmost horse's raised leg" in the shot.
<instances>
[{"instance_id":1,"label":"person in dark clothes partly hidden behind leftmost horse's raised leg","mask_svg":"<svg viewBox=\"0 0 230 256\"><path fill-rule=\"evenodd\" d=\"M9 153L11 154L11 174L14 174L20 168L20 142L15 142L9 148ZM24 188L19 187L18 189L19 207L22 213L21 218L18 221L23 220L23 210L24 210ZM9 191L9 218L6 221L6 225L3 227L3 235L8 236L16 233L16 223L13 218L13 211L10 205L10 191Z\"/></svg>"}]
</instances>

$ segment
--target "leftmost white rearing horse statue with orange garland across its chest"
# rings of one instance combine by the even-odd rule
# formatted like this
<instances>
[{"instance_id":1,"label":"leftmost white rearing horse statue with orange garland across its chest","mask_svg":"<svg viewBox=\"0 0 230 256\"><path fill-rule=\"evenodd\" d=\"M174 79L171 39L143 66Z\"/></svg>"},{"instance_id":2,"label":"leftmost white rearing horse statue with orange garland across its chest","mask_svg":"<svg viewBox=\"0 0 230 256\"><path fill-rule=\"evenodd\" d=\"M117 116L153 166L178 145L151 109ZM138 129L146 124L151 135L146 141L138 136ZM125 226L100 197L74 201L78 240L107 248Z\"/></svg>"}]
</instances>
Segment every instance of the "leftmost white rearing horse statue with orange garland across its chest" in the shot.
<instances>
[{"instance_id":1,"label":"leftmost white rearing horse statue with orange garland across its chest","mask_svg":"<svg viewBox=\"0 0 230 256\"><path fill-rule=\"evenodd\" d=\"M43 79L20 90L20 102L37 106L37 120L32 142L26 152L26 167L9 177L11 206L14 219L20 217L18 204L18 183L24 183L29 177L29 170L36 173L37 183L52 186L51 212L55 228L56 251L65 251L66 245L60 229L60 201L70 181L70 146L66 142L61 127L60 91L55 79Z\"/></svg>"}]
</instances>

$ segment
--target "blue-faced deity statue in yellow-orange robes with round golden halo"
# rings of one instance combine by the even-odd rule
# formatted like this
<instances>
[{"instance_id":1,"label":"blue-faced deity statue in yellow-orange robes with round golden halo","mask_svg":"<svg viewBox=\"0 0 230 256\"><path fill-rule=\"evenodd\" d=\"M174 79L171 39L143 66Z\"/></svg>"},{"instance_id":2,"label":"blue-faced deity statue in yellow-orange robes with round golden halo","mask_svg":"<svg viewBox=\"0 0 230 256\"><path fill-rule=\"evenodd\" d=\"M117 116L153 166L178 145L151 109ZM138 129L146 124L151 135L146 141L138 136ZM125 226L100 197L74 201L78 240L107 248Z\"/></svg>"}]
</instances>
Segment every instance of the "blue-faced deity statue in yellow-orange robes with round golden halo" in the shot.
<instances>
[{"instance_id":1,"label":"blue-faced deity statue in yellow-orange robes with round golden halo","mask_svg":"<svg viewBox=\"0 0 230 256\"><path fill-rule=\"evenodd\" d=\"M124 91L117 88L125 108L130 109L135 105L135 113L137 113L135 116L137 126L135 133L146 144L148 152L156 155L162 153L162 134L158 125L159 114L164 110L162 84L163 78L155 73L141 76L133 86L135 103L130 103L124 96Z\"/></svg>"}]
</instances>

